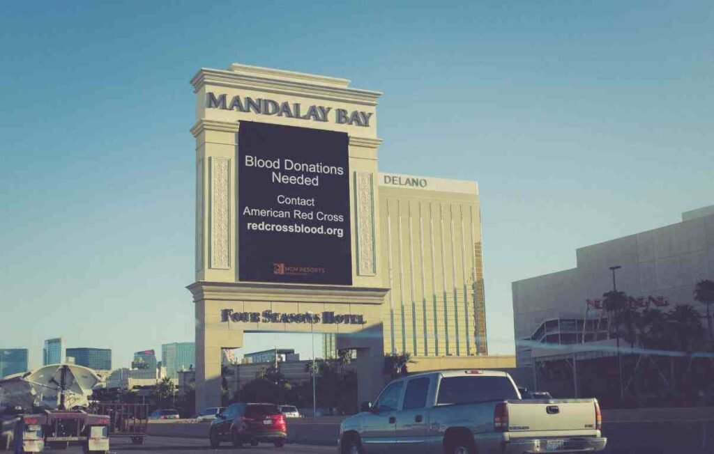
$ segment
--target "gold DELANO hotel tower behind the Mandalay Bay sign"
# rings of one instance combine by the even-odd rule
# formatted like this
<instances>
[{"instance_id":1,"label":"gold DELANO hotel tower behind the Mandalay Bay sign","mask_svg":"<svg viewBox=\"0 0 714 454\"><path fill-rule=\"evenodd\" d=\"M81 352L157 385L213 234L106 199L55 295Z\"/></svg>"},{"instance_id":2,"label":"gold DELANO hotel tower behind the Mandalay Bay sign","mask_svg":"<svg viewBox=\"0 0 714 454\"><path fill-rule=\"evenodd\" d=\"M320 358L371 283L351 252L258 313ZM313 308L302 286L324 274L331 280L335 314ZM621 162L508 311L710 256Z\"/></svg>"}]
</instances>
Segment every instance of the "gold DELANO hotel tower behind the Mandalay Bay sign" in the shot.
<instances>
[{"instance_id":1,"label":"gold DELANO hotel tower behind the Mandalay Bay sign","mask_svg":"<svg viewBox=\"0 0 714 454\"><path fill-rule=\"evenodd\" d=\"M378 175L385 354L488 354L478 185ZM327 358L336 336L326 334Z\"/></svg>"}]
</instances>

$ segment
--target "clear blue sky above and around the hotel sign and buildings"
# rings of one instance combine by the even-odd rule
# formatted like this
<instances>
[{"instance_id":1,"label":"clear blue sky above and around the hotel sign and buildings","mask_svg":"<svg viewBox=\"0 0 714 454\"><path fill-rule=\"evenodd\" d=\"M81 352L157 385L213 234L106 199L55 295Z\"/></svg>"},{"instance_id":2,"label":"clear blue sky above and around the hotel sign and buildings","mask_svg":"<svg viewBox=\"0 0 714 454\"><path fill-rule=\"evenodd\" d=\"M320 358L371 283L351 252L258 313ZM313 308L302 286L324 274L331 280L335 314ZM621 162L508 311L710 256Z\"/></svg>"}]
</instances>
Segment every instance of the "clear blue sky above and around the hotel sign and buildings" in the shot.
<instances>
[{"instance_id":1,"label":"clear blue sky above and around the hotel sign and buildings","mask_svg":"<svg viewBox=\"0 0 714 454\"><path fill-rule=\"evenodd\" d=\"M512 354L511 282L714 204L713 43L710 0L9 2L0 348L36 367L62 336L119 367L193 340L188 81L238 62L382 91L381 171L478 181L488 342ZM246 351L276 343L311 357Z\"/></svg>"}]
</instances>

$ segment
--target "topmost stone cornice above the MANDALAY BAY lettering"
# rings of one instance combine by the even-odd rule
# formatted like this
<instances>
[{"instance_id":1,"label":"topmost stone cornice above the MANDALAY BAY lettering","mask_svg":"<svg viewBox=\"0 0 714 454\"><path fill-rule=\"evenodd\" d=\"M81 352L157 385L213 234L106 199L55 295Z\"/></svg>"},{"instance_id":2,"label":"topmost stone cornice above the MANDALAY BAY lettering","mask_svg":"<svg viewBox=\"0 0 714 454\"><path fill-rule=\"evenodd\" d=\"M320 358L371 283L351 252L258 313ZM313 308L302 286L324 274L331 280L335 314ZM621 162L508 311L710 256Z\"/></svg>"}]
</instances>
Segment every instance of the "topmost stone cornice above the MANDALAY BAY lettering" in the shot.
<instances>
[{"instance_id":1,"label":"topmost stone cornice above the MANDALAY BAY lettering","mask_svg":"<svg viewBox=\"0 0 714 454\"><path fill-rule=\"evenodd\" d=\"M297 78L276 78L274 77L274 72L271 73L267 70L260 76L256 74L258 73L236 73L233 71L201 68L198 70L198 73L196 73L196 76L191 78L191 85L193 85L194 93L197 93L201 90L201 87L208 84L211 86L244 88L254 91L263 91L266 93L303 96L305 98L362 105L377 105L377 98L379 98L382 94L378 91L360 90L357 88L337 86L337 84L327 84L321 82L321 79L324 79L323 76L308 78L307 76L310 75L305 75L306 77L304 78L308 80L308 82L300 81Z\"/></svg>"}]
</instances>

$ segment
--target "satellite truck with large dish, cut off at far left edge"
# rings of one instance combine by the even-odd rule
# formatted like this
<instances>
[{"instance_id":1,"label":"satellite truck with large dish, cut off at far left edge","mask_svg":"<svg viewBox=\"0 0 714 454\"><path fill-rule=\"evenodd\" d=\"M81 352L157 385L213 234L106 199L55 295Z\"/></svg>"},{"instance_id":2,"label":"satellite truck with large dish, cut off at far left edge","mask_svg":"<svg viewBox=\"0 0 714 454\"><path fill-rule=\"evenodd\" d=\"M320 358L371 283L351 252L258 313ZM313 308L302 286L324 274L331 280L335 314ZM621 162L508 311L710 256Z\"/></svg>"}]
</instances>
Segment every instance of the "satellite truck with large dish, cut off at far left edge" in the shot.
<instances>
[{"instance_id":1,"label":"satellite truck with large dish, cut off at far left edge","mask_svg":"<svg viewBox=\"0 0 714 454\"><path fill-rule=\"evenodd\" d=\"M108 453L109 416L87 413L101 378L90 368L51 364L0 380L0 450L41 453L80 444Z\"/></svg>"}]
</instances>

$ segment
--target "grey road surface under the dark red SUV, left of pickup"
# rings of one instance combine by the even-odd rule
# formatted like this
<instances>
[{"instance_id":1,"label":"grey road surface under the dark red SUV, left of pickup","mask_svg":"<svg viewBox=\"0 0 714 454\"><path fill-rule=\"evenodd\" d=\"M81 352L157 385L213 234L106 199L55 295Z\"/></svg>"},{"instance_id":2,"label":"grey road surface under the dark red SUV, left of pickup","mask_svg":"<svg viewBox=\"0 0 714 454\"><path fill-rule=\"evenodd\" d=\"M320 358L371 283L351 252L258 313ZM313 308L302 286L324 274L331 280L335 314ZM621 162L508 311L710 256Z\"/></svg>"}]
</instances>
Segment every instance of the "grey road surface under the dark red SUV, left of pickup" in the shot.
<instances>
[{"instance_id":1,"label":"grey road surface under the dark red SUV, left of pickup","mask_svg":"<svg viewBox=\"0 0 714 454\"><path fill-rule=\"evenodd\" d=\"M48 452L51 452L49 450ZM80 454L82 449L79 446L71 446L67 450L55 451L56 453ZM261 443L255 448L244 445L243 449L233 448L231 443L222 443L221 448L211 449L208 440L200 438L169 438L169 437L146 437L143 445L132 445L129 438L111 438L109 441L109 453L127 454L161 454L161 453L181 453L181 454L208 454L208 453L276 453L276 454L307 454L307 453L331 453L336 452L333 446L313 446L313 445L285 445L283 448L276 448L267 443Z\"/></svg>"}]
</instances>

